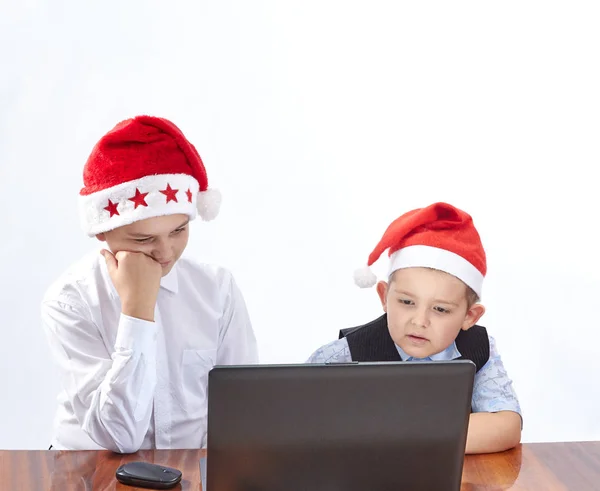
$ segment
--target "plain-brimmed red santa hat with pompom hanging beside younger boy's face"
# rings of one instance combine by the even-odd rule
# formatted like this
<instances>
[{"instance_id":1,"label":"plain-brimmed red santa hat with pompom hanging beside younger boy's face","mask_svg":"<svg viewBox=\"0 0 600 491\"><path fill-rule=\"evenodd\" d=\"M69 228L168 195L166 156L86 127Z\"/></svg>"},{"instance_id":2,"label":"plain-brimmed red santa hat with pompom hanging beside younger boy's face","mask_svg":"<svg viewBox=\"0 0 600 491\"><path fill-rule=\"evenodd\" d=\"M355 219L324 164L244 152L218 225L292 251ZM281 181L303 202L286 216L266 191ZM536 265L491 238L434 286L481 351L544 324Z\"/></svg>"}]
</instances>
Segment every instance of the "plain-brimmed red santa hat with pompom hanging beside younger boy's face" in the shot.
<instances>
[{"instance_id":1,"label":"plain-brimmed red santa hat with pompom hanging beside younger boy's face","mask_svg":"<svg viewBox=\"0 0 600 491\"><path fill-rule=\"evenodd\" d=\"M375 285L370 266L389 249L389 272L424 267L449 273L481 296L487 266L481 239L473 219L447 203L434 203L409 211L394 220L375 247L367 266L355 272L361 288Z\"/></svg>"}]
</instances>

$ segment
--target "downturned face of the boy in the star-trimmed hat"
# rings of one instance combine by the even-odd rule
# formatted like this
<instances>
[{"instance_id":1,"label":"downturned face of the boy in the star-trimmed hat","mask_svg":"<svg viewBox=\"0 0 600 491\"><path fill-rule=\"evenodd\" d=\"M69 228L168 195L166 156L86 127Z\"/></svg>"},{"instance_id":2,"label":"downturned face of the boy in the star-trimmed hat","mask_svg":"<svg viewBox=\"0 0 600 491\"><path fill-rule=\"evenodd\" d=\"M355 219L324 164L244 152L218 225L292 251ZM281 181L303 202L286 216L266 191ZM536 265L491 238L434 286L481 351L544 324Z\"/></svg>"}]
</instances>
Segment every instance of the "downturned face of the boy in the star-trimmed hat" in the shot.
<instances>
[{"instance_id":1,"label":"downturned face of the boy in the star-trimmed hat","mask_svg":"<svg viewBox=\"0 0 600 491\"><path fill-rule=\"evenodd\" d=\"M96 237L106 241L113 254L119 251L146 254L160 263L165 276L187 246L189 217L178 214L147 218Z\"/></svg>"}]
</instances>

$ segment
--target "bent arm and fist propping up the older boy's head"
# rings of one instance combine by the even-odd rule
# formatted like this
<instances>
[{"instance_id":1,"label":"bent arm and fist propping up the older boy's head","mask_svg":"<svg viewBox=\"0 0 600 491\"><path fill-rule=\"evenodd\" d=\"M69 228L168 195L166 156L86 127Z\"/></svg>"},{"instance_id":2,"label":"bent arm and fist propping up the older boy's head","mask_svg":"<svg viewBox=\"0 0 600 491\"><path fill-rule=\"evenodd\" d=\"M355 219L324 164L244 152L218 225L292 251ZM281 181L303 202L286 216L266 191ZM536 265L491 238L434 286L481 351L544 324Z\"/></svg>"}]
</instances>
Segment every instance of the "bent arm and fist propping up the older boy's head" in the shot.
<instances>
[{"instance_id":1,"label":"bent arm and fist propping up the older boy's head","mask_svg":"<svg viewBox=\"0 0 600 491\"><path fill-rule=\"evenodd\" d=\"M77 291L42 304L42 320L79 424L98 445L139 450L150 425L156 386L154 310L162 270L142 253L103 250L121 301L114 347L108 347ZM114 351L113 351L114 350ZM112 355L111 355L112 353Z\"/></svg>"}]
</instances>

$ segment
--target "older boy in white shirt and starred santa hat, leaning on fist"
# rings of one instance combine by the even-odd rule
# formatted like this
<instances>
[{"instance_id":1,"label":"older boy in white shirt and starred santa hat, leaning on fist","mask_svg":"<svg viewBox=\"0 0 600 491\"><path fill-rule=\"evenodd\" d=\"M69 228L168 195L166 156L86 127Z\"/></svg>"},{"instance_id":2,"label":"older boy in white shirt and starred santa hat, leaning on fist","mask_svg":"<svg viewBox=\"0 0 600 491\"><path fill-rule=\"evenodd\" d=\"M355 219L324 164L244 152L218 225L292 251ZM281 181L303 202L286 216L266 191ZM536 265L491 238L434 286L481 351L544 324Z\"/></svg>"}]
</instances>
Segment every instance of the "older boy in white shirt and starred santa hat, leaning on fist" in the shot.
<instances>
[{"instance_id":1,"label":"older boy in white shirt and starred santa hat, leaning on fist","mask_svg":"<svg viewBox=\"0 0 600 491\"><path fill-rule=\"evenodd\" d=\"M52 448L200 448L208 371L258 361L232 275L181 258L189 222L213 219L220 195L179 128L150 116L102 137L83 180L83 228L107 247L42 303L63 386Z\"/></svg>"}]
</instances>

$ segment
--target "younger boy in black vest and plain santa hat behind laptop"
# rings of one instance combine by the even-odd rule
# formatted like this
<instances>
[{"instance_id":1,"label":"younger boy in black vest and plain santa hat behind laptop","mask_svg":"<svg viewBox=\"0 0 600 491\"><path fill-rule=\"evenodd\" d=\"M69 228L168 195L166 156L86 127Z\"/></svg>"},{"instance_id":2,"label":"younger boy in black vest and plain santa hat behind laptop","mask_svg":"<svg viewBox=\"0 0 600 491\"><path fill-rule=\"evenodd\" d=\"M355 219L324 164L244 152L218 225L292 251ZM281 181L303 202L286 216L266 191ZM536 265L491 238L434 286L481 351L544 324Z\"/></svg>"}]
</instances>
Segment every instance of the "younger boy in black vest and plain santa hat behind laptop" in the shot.
<instances>
[{"instance_id":1,"label":"younger boy in black vest and plain santa hat behind laptop","mask_svg":"<svg viewBox=\"0 0 600 491\"><path fill-rule=\"evenodd\" d=\"M309 363L447 361L475 363L466 453L507 450L521 440L521 409L494 339L475 325L486 257L471 217L449 204L412 210L388 227L356 283L371 287L368 269L389 249L388 282L377 283L385 314L343 329Z\"/></svg>"}]
</instances>

